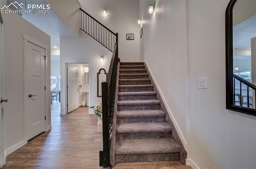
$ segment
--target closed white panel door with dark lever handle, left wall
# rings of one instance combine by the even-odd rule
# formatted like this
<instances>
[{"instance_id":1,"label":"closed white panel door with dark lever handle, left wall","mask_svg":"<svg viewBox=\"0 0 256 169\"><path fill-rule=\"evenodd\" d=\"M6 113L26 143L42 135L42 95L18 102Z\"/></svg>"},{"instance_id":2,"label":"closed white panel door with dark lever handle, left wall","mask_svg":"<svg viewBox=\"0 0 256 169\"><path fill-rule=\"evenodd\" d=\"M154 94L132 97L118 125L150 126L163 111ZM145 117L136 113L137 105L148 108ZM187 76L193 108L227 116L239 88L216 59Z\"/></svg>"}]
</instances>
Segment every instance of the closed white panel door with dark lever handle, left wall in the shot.
<instances>
[{"instance_id":1,"label":"closed white panel door with dark lever handle, left wall","mask_svg":"<svg viewBox=\"0 0 256 169\"><path fill-rule=\"evenodd\" d=\"M25 136L27 140L45 131L46 50L25 40Z\"/></svg>"}]
</instances>

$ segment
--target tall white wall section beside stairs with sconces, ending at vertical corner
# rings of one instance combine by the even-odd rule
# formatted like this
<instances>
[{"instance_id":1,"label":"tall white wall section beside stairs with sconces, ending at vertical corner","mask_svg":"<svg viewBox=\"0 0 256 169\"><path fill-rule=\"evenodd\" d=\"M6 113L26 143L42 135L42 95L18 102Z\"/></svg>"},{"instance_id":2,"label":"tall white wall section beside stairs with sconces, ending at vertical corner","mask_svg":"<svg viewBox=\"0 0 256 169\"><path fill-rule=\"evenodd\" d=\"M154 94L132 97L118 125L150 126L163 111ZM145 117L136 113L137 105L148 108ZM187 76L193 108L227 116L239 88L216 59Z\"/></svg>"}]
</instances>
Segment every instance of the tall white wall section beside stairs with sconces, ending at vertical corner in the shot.
<instances>
[{"instance_id":1,"label":"tall white wall section beside stairs with sconces, ending at vertical corner","mask_svg":"<svg viewBox=\"0 0 256 169\"><path fill-rule=\"evenodd\" d=\"M141 51L152 71L168 111L178 124L180 137L186 137L186 1L140 1L143 35ZM181 22L182 21L182 22ZM142 57L143 59L143 57ZM186 144L186 138L182 139ZM186 145L184 145L186 147Z\"/></svg>"}]
</instances>

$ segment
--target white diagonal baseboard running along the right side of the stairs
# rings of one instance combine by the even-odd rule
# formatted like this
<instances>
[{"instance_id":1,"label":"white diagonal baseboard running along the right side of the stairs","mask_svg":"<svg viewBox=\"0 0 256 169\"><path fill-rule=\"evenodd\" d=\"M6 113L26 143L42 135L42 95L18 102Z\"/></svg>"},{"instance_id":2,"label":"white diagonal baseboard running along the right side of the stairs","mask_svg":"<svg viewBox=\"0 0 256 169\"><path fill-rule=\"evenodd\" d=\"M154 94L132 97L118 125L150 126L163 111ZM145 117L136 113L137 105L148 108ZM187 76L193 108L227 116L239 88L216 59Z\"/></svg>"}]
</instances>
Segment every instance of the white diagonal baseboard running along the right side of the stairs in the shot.
<instances>
[{"instance_id":1,"label":"white diagonal baseboard running along the right side of the stairs","mask_svg":"<svg viewBox=\"0 0 256 169\"><path fill-rule=\"evenodd\" d=\"M183 136L183 134L182 134L182 132L181 132L181 130L180 130L180 128L179 128L179 126L178 126L178 124L177 124L177 122L176 122L174 116L173 116L173 114L172 114L172 111L170 110L170 108L169 108L169 106L168 106L168 103L166 102L166 100L165 100L165 98L164 98L164 95L163 95L163 93L162 93L162 91L161 91L159 85L157 84L156 79L154 78L154 75L153 75L152 71L150 70L150 67L148 66L148 63L147 63L146 60L145 60L145 63L146 63L146 66L148 67L148 71L149 71L149 73L150 73L150 75L151 75L151 77L152 77L152 79L153 79L153 81L154 81L154 83L155 83L155 85L156 85L156 88L157 88L157 90L158 90L158 92L159 92L159 94L160 94L160 96L161 96L161 98L162 98L162 100L163 100L163 102L164 102L164 105L165 105L165 107L166 107L166 110L168 111L168 114L170 115L170 118L172 119L172 123L174 124L174 127L175 127L176 130L177 130L177 133L178 133L178 135L179 135L179 137L180 137L180 140L182 141L182 144L184 145L184 148L185 148L186 151L187 151L187 141L185 140L185 138L184 138L184 136Z\"/></svg>"}]
</instances>

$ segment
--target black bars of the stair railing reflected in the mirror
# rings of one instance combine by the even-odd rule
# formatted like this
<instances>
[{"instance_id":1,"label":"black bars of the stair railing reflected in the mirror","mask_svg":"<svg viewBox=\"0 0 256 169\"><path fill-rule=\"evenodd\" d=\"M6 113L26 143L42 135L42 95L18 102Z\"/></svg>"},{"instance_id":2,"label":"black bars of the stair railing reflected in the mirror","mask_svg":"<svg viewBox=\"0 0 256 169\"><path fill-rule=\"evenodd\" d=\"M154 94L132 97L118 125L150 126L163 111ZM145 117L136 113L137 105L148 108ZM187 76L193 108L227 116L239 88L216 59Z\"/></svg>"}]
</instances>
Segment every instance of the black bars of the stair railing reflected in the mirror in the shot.
<instances>
[{"instance_id":1,"label":"black bars of the stair railing reflected in the mirror","mask_svg":"<svg viewBox=\"0 0 256 169\"><path fill-rule=\"evenodd\" d=\"M235 74L233 74L233 80L234 80L234 83L233 83L233 86L234 86L234 105L236 105L236 96L239 96L239 98L240 98L240 100L238 100L239 101L239 106L243 106L244 105L244 98L242 97L241 98L241 96L245 96L246 98L247 98L247 102L246 102L246 107L247 108L253 108L253 104L254 105L256 105L256 99L255 98L253 98L253 96L250 96L250 94L249 94L249 88L250 89L252 89L252 91L254 90L254 92L255 92L255 96L256 96L256 86L255 85L253 85L252 83L249 83L248 81L246 81L246 80L244 80L244 79L242 79L241 77L239 77L239 76L237 76L237 75L235 75ZM240 91L237 93L236 92L236 80L237 81L239 81L240 82ZM245 85L245 89L246 89L246 94L242 94L242 84L243 85ZM250 103L250 98L252 98L252 102ZM250 104L251 104L251 106L252 107L250 107ZM255 108L254 108L255 109Z\"/></svg>"}]
</instances>

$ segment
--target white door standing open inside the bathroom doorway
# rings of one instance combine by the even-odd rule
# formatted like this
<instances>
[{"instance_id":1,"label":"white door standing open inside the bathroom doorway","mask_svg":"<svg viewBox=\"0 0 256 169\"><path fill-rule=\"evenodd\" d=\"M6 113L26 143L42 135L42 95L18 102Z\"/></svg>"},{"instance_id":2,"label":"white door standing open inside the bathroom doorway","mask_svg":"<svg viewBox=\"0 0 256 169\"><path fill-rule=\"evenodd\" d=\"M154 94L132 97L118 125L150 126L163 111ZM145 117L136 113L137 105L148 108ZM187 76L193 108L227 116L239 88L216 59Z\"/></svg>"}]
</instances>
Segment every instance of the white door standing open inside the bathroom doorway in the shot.
<instances>
[{"instance_id":1,"label":"white door standing open inside the bathroom doorway","mask_svg":"<svg viewBox=\"0 0 256 169\"><path fill-rule=\"evenodd\" d=\"M78 108L78 68L68 65L68 113Z\"/></svg>"}]
</instances>

